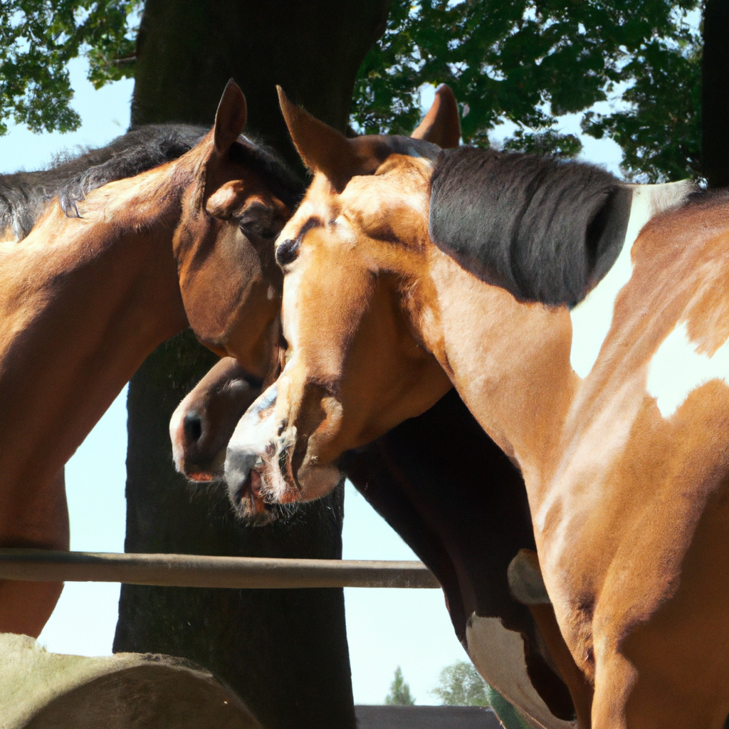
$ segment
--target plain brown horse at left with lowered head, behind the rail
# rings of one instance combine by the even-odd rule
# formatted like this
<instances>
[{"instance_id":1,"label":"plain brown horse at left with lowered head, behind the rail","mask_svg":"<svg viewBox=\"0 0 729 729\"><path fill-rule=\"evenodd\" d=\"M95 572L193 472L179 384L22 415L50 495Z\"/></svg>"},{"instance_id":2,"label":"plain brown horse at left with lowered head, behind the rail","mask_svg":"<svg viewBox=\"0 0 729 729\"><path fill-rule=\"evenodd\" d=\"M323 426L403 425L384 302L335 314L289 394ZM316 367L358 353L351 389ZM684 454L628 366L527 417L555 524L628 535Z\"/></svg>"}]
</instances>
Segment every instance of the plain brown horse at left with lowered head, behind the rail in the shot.
<instances>
[{"instance_id":1,"label":"plain brown horse at left with lowered head, behind the rail","mask_svg":"<svg viewBox=\"0 0 729 729\"><path fill-rule=\"evenodd\" d=\"M190 325L252 373L270 368L281 286L272 241L299 186L239 136L245 122L231 82L195 149L131 179L82 184L72 214L53 202L26 238L1 243L2 545L68 548L63 464L163 340ZM61 588L0 582L0 631L37 636Z\"/></svg>"}]
</instances>

